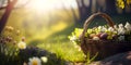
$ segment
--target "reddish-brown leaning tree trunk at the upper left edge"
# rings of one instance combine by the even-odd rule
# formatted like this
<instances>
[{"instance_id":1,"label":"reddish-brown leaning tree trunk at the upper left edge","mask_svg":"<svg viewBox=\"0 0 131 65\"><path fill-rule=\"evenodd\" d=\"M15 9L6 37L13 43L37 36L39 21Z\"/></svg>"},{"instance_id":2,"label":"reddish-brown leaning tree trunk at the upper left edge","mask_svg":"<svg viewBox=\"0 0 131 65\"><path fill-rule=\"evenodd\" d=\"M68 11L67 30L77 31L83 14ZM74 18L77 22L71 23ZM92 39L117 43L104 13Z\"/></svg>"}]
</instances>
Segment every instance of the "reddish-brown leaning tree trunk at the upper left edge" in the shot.
<instances>
[{"instance_id":1,"label":"reddish-brown leaning tree trunk at the upper left edge","mask_svg":"<svg viewBox=\"0 0 131 65\"><path fill-rule=\"evenodd\" d=\"M12 9L14 8L14 4L16 3L17 0L13 0L13 1L10 1L5 8L5 12L3 13L1 20L0 20L0 34L2 32L7 22L8 22L8 18L11 14L11 11Z\"/></svg>"}]
</instances>

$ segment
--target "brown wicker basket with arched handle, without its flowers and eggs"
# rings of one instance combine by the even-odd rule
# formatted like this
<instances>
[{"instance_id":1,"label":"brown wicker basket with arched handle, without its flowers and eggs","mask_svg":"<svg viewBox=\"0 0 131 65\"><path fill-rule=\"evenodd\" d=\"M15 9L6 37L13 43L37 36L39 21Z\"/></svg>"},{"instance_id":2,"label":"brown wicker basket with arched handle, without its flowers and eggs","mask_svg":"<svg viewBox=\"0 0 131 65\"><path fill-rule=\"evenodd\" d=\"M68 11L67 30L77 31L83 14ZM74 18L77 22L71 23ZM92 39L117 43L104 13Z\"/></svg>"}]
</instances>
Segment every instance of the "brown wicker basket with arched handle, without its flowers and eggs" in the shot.
<instances>
[{"instance_id":1,"label":"brown wicker basket with arched handle, without its flowers and eggs","mask_svg":"<svg viewBox=\"0 0 131 65\"><path fill-rule=\"evenodd\" d=\"M110 16L105 13L95 13L91 15L84 23L84 30L80 36L81 40L81 49L86 55L90 52L91 56L94 56L97 52L98 55L96 60L102 60L107 56L130 51L131 50L131 41L115 41L115 40L92 40L86 38L84 35L87 31L87 26L92 22L93 18L96 16L100 16L106 20L109 26L114 27L114 22L111 21Z\"/></svg>"}]
</instances>

